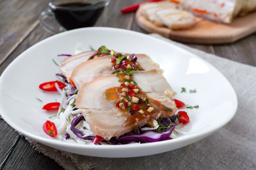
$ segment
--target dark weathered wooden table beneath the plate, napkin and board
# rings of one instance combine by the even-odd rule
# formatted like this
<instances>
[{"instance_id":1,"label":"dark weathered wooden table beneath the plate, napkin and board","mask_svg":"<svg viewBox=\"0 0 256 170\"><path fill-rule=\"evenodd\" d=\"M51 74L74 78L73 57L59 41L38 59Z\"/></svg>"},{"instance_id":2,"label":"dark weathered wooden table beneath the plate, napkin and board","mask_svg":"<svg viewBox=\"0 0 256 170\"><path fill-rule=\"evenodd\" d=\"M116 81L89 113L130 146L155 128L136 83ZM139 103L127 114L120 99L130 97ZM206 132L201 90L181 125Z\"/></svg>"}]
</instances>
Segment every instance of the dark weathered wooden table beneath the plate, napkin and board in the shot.
<instances>
[{"instance_id":1,"label":"dark weathered wooden table beneath the plate, napkin and board","mask_svg":"<svg viewBox=\"0 0 256 170\"><path fill-rule=\"evenodd\" d=\"M52 36L38 22L40 11L49 0L0 0L0 73L27 48ZM135 22L135 13L121 14L119 9L141 0L112 0L95 26L116 27L146 33ZM228 33L227 33L228 34ZM195 45L191 47L240 63L256 66L256 34L233 44ZM63 169L54 160L35 151L25 137L0 119L0 170Z\"/></svg>"}]
</instances>

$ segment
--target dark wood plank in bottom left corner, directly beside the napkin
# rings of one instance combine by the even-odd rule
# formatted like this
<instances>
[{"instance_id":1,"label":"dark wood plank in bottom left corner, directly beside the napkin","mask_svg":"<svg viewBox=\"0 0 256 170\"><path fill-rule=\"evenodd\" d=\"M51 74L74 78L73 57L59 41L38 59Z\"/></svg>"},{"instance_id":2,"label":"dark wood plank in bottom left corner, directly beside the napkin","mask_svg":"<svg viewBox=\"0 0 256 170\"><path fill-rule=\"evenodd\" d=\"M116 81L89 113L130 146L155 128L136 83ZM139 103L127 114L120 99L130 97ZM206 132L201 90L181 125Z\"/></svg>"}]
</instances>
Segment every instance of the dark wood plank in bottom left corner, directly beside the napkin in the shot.
<instances>
[{"instance_id":1,"label":"dark wood plank in bottom left corner, directly beside the napkin","mask_svg":"<svg viewBox=\"0 0 256 170\"><path fill-rule=\"evenodd\" d=\"M63 170L58 163L54 162L44 154L34 150L25 140L21 137L16 148L13 150L11 157L6 162L3 169L7 170Z\"/></svg>"}]
</instances>

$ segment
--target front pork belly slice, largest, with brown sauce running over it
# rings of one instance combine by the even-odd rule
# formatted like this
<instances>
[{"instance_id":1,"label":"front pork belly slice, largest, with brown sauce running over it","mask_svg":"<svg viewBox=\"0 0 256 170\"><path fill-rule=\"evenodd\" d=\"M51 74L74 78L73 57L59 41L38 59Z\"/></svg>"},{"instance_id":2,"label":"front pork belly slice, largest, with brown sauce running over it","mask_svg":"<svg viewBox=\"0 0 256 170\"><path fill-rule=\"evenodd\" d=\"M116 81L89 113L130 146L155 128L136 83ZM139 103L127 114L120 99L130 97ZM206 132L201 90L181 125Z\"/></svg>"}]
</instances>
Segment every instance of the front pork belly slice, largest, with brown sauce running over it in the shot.
<instances>
[{"instance_id":1,"label":"front pork belly slice, largest, with brown sauce running over it","mask_svg":"<svg viewBox=\"0 0 256 170\"><path fill-rule=\"evenodd\" d=\"M138 84L141 93L146 93L148 98L150 98L154 108L158 107L157 103L161 106L164 104L170 108L170 112L157 111L152 112L149 117L140 118L136 124L138 127L149 123L152 119L159 118L159 116L169 117L177 111L175 103L170 98L175 92L173 92L161 71L139 71L133 75L132 80ZM115 74L108 74L84 84L76 98L76 107L83 109L83 115L89 123L92 132L106 140L113 136L120 136L130 132L135 128L135 125L130 125L127 121L132 120L132 116L135 114L130 115L127 110L121 110L115 106L119 98L121 98L121 94L113 100L106 99L108 89L117 89L117 87L120 87L120 84L119 78ZM117 94L117 92L115 93Z\"/></svg>"}]
</instances>

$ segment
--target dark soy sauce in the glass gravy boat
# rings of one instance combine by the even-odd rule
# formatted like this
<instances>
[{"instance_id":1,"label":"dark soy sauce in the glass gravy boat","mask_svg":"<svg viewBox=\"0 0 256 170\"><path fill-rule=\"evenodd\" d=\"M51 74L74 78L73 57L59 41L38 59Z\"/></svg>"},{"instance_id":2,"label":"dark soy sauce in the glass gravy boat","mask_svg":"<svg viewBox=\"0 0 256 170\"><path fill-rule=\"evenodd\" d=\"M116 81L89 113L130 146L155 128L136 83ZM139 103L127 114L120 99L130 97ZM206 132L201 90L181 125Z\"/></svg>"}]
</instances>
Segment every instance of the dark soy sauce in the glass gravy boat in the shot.
<instances>
[{"instance_id":1,"label":"dark soy sauce in the glass gravy boat","mask_svg":"<svg viewBox=\"0 0 256 170\"><path fill-rule=\"evenodd\" d=\"M104 7L92 9L83 9L91 4L84 2L69 2L58 4L59 7L69 7L68 9L53 9L56 20L67 30L92 27L99 16L101 15Z\"/></svg>"}]
</instances>

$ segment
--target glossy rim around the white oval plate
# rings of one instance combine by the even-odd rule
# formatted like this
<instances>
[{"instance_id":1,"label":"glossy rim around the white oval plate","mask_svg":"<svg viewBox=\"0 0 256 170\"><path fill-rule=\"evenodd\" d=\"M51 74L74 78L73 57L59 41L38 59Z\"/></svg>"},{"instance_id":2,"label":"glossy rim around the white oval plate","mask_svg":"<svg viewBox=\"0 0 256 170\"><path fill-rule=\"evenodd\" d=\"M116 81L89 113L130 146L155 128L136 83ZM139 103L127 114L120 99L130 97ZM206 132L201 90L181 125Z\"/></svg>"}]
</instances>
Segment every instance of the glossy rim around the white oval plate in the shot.
<instances>
[{"instance_id":1,"label":"glossy rim around the white oval plate","mask_svg":"<svg viewBox=\"0 0 256 170\"><path fill-rule=\"evenodd\" d=\"M211 65L210 63L208 63L206 60L204 60L203 58L200 58L199 56L193 54L192 52L188 51L187 49L184 49L182 47L179 47L175 44L171 44L171 43L168 43L164 40L161 40L159 38L156 38L156 37L153 37L153 36L149 36L147 34L143 34L143 33L139 33L137 31L132 31L132 30L127 30L127 29L120 29L120 28L111 28L111 27L87 27L87 28L80 28L80 29L74 29L74 30L70 30L70 31L65 31L63 33L60 33L60 34L56 34L56 35L53 35L53 36L50 36L44 40L41 40L40 42L37 42L36 44L32 45L31 47L29 47L28 49L26 49L24 52L22 52L19 56L17 56L7 67L6 69L4 69L4 72L2 72L1 76L0 76L0 85L2 85L3 83L3 77L5 74L7 74L8 70L11 69L12 65L16 62L18 62L18 60L20 60L20 58L22 58L23 56L26 55L26 52L29 51L31 48L34 48L34 47L37 47L38 45L40 45L41 43L45 42L45 41L48 41L48 40L51 40L53 38L56 38L58 36L62 36L62 35L65 35L65 34L71 34L72 32L75 32L75 31L81 31L81 30L90 30L90 29L97 29L97 30L110 30L110 31L124 31L124 32L130 32L132 34L137 34L139 36L145 36L147 38L151 38L152 40L155 40L155 41L159 41L159 42L164 42L165 44L167 45L171 45L173 47L175 47L176 49L179 49L181 51L184 51L186 53L189 53L190 55L193 55L193 57L195 58L198 58L199 60L203 61L204 63L206 63L207 65L211 66L211 69L214 69L216 72L218 72L218 74L220 74L220 76L222 76L222 78L224 78L225 81L227 81L227 85L230 86L231 88L231 91L232 93L234 93L234 106L233 106L233 110L231 111L232 115L229 117L229 119L225 120L222 124L219 124L213 128L211 128L211 130L209 131L204 131L204 132L198 132L198 133L195 133L195 134L189 134L189 135L185 135L185 136L182 136L182 138L177 138L175 140L167 140L167 141L158 141L158 142L153 142L153 143L143 143L143 144L138 144L138 145L86 145L86 144L80 144L80 143L69 143L69 142L65 142L65 141L59 141L59 140L49 140L47 139L46 137L43 137L43 136L38 136L38 135L34 135L34 134L30 134L30 133L27 133L26 131L24 130L20 130L18 128L18 125L16 125L16 123L13 123L9 118L8 116L5 116L6 114L3 113L3 110L2 110L2 106L0 105L0 115L2 116L3 120L8 123L13 129L15 129L16 131L18 131L19 133L35 140L35 141L38 141L39 143L44 143L45 145L48 145L50 147L52 147L52 145L59 145L61 147L69 147L69 148L80 148L80 149L92 149L93 150L114 150L114 149L124 149L124 150L127 150L127 149L137 149L137 148L140 148L140 149L143 149L143 148L148 148L150 146L155 146L157 144L159 145L168 145L168 144L174 144L174 143L182 143L184 141L186 141L188 138L190 140L193 140L193 139L203 139L204 137L212 134L213 132L216 132L218 129L222 128L223 126L225 126L229 121L231 121L231 119L233 119L233 117L235 116L236 114L236 111L238 109L238 98L237 98L237 95L236 95L236 92L234 90L234 88L232 87L231 83L227 80L227 78L218 70L216 69L216 67L214 67L213 65ZM194 142L193 142L194 143ZM98 147L99 146L99 147ZM179 147L180 148L180 147ZM167 152L168 150L166 150Z\"/></svg>"}]
</instances>

